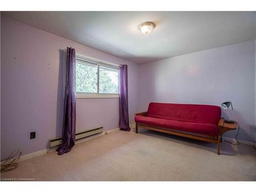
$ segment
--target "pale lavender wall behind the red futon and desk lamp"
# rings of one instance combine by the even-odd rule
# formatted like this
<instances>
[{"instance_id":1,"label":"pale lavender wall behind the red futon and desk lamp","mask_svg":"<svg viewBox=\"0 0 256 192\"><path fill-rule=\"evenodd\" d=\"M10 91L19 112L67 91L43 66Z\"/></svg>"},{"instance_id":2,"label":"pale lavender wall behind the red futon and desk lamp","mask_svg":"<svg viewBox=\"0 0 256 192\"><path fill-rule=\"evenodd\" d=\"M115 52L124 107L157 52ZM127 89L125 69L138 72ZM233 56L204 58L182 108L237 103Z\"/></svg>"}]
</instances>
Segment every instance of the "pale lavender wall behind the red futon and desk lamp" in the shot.
<instances>
[{"instance_id":1,"label":"pale lavender wall behind the red futon and desk lamp","mask_svg":"<svg viewBox=\"0 0 256 192\"><path fill-rule=\"evenodd\" d=\"M149 102L220 105L231 100L239 139L254 141L254 40L139 65L139 110ZM229 112L222 111L227 117ZM237 132L224 136L233 138Z\"/></svg>"}]
</instances>

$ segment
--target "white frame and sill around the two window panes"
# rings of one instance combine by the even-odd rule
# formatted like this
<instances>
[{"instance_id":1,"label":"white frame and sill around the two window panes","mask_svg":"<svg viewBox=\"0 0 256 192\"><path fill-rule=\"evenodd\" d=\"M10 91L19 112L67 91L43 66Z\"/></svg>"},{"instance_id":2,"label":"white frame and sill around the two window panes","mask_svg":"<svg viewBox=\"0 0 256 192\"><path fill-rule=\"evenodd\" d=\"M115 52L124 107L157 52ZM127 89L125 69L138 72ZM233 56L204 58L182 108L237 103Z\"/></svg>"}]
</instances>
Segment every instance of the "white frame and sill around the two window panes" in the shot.
<instances>
[{"instance_id":1,"label":"white frame and sill around the two window panes","mask_svg":"<svg viewBox=\"0 0 256 192\"><path fill-rule=\"evenodd\" d=\"M76 98L81 99L81 98L119 98L119 65L116 65L114 63L110 63L107 61L103 60L98 60L95 58L83 56L80 54L76 54L76 60L82 60L85 62L93 63L95 66L97 66L97 93L83 93L83 92L76 92ZM118 93L99 93L99 69L101 67L109 68L109 69L114 69L118 71ZM76 82L76 80L75 80Z\"/></svg>"}]
</instances>

